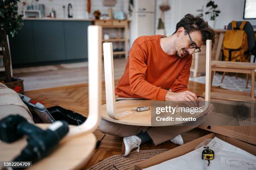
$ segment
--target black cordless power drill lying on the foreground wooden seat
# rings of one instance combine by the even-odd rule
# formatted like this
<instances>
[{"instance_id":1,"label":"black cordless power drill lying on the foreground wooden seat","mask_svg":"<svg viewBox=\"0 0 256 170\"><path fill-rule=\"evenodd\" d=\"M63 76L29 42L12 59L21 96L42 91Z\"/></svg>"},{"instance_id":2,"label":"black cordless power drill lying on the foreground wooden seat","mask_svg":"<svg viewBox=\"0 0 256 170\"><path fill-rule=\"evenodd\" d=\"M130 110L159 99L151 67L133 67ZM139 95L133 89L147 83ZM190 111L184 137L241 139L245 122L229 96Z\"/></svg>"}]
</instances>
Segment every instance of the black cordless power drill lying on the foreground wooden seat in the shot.
<instances>
[{"instance_id":1,"label":"black cordless power drill lying on the foreground wooden seat","mask_svg":"<svg viewBox=\"0 0 256 170\"><path fill-rule=\"evenodd\" d=\"M20 115L10 115L0 120L0 140L12 143L23 135L27 136L28 145L13 161L35 163L49 155L68 132L65 121L56 121L47 130L42 130Z\"/></svg>"}]
</instances>

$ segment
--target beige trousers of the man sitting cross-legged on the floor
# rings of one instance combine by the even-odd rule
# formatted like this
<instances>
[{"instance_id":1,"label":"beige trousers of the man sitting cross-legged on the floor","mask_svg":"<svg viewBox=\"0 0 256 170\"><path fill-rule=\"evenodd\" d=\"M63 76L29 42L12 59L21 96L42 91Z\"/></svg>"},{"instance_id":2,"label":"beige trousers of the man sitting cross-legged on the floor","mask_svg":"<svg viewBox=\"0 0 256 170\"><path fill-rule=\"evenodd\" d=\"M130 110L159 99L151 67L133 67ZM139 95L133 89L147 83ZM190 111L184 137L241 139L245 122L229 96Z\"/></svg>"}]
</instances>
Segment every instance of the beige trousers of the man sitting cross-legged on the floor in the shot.
<instances>
[{"instance_id":1,"label":"beige trousers of the man sitting cross-legged on the floor","mask_svg":"<svg viewBox=\"0 0 256 170\"><path fill-rule=\"evenodd\" d=\"M106 133L113 136L128 137L132 135L138 135L141 132L147 132L152 139L154 145L159 145L168 140L175 138L184 132L196 128L196 125L183 125L183 126L133 126L123 125L108 120L101 119L99 129L102 133Z\"/></svg>"}]
</instances>

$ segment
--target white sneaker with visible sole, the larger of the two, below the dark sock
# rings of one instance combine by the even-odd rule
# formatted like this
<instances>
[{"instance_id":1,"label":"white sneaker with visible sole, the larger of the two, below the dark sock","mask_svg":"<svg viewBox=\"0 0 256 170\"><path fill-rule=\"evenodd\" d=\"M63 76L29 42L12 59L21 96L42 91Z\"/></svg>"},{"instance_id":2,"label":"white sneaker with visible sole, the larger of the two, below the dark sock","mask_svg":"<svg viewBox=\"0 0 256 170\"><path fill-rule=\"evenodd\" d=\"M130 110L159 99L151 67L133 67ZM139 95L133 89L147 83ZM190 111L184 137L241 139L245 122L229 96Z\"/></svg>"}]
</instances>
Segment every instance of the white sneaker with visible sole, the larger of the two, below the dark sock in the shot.
<instances>
[{"instance_id":1,"label":"white sneaker with visible sole, the larger of the two, below the dark sock","mask_svg":"<svg viewBox=\"0 0 256 170\"><path fill-rule=\"evenodd\" d=\"M122 147L122 154L123 156L127 156L131 150L134 148L138 148L137 152L140 151L140 145L141 145L141 138L139 138L136 135L124 137L123 138L123 147Z\"/></svg>"}]
</instances>

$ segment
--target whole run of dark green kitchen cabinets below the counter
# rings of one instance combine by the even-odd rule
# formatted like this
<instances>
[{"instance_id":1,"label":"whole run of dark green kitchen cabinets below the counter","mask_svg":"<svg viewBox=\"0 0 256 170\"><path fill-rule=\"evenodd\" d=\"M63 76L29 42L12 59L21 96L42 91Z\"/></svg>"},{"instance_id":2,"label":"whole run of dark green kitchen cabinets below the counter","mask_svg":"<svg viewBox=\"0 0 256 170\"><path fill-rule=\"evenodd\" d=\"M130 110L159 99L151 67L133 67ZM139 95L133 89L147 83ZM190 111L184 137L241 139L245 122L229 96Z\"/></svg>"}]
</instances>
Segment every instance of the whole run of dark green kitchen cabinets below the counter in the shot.
<instances>
[{"instance_id":1,"label":"whole run of dark green kitchen cabinets below the counter","mask_svg":"<svg viewBox=\"0 0 256 170\"><path fill-rule=\"evenodd\" d=\"M14 67L87 60L89 25L91 21L24 20L22 30L9 37Z\"/></svg>"}]
</instances>

